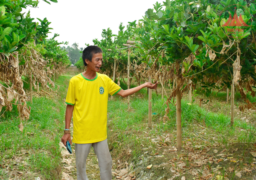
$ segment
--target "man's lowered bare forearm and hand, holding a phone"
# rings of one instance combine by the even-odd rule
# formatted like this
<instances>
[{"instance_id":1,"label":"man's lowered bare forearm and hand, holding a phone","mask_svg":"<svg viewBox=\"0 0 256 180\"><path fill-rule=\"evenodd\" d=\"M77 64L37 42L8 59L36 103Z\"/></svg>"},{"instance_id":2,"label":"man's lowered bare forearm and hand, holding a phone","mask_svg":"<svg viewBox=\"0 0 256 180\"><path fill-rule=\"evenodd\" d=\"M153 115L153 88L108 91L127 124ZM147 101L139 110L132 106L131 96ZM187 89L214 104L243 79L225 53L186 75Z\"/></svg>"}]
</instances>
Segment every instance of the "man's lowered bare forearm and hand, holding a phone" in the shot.
<instances>
[{"instance_id":1,"label":"man's lowered bare forearm and hand, holding a phone","mask_svg":"<svg viewBox=\"0 0 256 180\"><path fill-rule=\"evenodd\" d=\"M73 105L67 105L66 116L65 116L65 129L69 129L70 128L70 122L71 122L73 110L74 110L74 106ZM66 146L66 142L67 141L69 141L70 144L72 145L70 134L64 134L62 136L62 138L61 138L61 142L64 144L64 146Z\"/></svg>"}]
</instances>

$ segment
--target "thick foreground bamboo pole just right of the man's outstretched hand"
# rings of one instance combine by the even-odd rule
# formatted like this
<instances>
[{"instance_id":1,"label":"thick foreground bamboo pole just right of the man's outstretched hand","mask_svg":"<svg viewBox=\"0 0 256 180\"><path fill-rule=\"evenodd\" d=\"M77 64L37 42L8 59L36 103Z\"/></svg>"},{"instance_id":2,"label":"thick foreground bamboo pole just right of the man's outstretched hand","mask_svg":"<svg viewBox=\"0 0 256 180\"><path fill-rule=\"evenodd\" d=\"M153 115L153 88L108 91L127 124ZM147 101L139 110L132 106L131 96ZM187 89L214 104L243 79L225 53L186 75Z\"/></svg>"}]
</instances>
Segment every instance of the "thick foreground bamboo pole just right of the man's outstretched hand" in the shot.
<instances>
[{"instance_id":1,"label":"thick foreground bamboo pole just right of the man's outstretched hand","mask_svg":"<svg viewBox=\"0 0 256 180\"><path fill-rule=\"evenodd\" d=\"M176 119L177 119L177 149L180 150L181 142L181 96L180 88L176 90Z\"/></svg>"}]
</instances>

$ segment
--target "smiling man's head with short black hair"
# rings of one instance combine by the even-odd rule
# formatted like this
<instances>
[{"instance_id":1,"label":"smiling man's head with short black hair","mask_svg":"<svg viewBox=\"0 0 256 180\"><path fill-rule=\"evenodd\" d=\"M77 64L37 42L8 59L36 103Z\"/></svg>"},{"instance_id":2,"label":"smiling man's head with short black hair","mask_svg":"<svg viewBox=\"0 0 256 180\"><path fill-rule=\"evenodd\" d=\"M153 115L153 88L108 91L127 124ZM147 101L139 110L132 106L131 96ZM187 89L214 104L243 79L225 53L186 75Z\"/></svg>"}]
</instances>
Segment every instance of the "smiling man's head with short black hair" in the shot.
<instances>
[{"instance_id":1,"label":"smiling man's head with short black hair","mask_svg":"<svg viewBox=\"0 0 256 180\"><path fill-rule=\"evenodd\" d=\"M99 68L102 65L102 58L102 49L98 46L87 46L83 51L82 59L87 69L99 72Z\"/></svg>"}]
</instances>

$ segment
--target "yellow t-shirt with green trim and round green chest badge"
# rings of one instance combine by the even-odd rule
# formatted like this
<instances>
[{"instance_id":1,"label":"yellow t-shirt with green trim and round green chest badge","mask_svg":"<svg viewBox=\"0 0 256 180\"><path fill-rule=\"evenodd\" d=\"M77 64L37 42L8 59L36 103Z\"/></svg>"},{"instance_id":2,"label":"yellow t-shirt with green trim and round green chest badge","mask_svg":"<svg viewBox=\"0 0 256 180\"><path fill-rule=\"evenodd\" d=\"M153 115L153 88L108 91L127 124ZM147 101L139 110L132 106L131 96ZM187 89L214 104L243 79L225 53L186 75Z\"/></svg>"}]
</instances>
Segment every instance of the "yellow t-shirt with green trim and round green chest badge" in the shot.
<instances>
[{"instance_id":1,"label":"yellow t-shirt with green trim and round green chest badge","mask_svg":"<svg viewBox=\"0 0 256 180\"><path fill-rule=\"evenodd\" d=\"M74 105L74 143L107 139L108 94L114 96L120 90L121 87L105 74L96 73L94 79L79 74L70 79L66 103Z\"/></svg>"}]
</instances>

